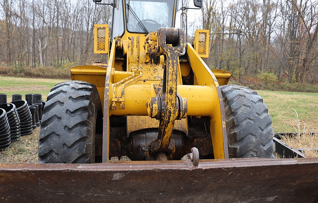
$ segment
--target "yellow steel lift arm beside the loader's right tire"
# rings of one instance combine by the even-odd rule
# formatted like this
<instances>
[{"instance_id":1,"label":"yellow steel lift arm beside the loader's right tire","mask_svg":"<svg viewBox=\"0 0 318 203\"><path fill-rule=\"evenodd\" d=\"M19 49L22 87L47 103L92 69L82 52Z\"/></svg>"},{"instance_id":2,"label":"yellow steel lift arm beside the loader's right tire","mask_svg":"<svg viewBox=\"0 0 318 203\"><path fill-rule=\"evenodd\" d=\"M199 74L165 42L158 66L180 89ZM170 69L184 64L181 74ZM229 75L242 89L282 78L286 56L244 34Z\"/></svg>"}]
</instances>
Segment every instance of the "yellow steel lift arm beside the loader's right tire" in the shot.
<instances>
[{"instance_id":1,"label":"yellow steel lift arm beside the loader's right tire","mask_svg":"<svg viewBox=\"0 0 318 203\"><path fill-rule=\"evenodd\" d=\"M215 106L213 111L210 112L210 132L214 157L216 159L228 158L226 156L228 143L227 139L225 139L227 130L224 104L218 80L190 44L187 44L187 53L198 85L210 86L214 89L213 96L210 98Z\"/></svg>"}]
</instances>

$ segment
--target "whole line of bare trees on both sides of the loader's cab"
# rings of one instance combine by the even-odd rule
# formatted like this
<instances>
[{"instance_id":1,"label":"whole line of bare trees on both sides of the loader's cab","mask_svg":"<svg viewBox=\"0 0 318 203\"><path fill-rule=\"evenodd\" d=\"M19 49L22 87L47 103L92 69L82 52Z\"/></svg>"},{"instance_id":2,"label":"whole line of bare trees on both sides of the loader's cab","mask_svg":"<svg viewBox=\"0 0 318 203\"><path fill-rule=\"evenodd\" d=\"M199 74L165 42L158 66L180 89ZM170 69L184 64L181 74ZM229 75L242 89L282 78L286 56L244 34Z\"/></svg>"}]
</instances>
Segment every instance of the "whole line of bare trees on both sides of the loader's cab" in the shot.
<instances>
[{"instance_id":1,"label":"whole line of bare trees on both sides of the loader's cab","mask_svg":"<svg viewBox=\"0 0 318 203\"><path fill-rule=\"evenodd\" d=\"M92 0L1 0L0 64L90 64L93 25L111 24L111 14ZM318 83L316 0L203 0L198 22L189 24L210 30L211 68L239 80L270 72Z\"/></svg>"}]
</instances>

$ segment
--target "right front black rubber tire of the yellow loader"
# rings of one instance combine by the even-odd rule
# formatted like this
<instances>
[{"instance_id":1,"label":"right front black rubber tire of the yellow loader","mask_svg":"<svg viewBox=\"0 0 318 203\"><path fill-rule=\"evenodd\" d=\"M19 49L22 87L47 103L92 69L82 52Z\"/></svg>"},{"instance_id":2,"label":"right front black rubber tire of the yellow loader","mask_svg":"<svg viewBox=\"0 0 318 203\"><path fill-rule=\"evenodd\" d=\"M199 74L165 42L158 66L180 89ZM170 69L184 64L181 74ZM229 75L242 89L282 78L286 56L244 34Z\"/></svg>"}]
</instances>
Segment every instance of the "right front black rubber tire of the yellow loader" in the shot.
<instances>
[{"instance_id":1,"label":"right front black rubber tire of the yellow loader","mask_svg":"<svg viewBox=\"0 0 318 203\"><path fill-rule=\"evenodd\" d=\"M230 158L274 158L272 119L257 92L238 85L220 86Z\"/></svg>"}]
</instances>

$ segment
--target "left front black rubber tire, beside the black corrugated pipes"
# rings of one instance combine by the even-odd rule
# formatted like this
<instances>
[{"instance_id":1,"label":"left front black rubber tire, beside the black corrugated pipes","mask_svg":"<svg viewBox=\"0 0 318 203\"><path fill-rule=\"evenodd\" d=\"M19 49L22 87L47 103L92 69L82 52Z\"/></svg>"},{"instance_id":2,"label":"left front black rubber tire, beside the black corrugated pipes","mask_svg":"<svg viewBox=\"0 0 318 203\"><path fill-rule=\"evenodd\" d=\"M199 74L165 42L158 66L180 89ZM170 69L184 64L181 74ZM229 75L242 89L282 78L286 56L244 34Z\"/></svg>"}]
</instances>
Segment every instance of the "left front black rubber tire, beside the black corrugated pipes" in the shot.
<instances>
[{"instance_id":1,"label":"left front black rubber tire, beside the black corrugated pipes","mask_svg":"<svg viewBox=\"0 0 318 203\"><path fill-rule=\"evenodd\" d=\"M39 163L94 163L100 111L95 85L83 81L55 85L43 109Z\"/></svg>"}]
</instances>

